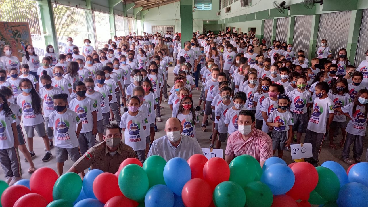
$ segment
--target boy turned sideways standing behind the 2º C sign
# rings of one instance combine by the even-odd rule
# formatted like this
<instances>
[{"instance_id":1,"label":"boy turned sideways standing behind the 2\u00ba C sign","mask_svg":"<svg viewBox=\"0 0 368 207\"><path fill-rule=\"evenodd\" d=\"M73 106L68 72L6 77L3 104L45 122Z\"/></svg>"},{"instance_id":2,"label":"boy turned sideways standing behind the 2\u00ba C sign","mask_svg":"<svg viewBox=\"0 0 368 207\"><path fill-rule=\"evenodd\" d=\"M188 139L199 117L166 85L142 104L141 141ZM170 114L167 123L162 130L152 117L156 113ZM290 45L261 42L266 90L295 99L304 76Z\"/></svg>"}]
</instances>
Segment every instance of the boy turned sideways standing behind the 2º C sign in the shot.
<instances>
[{"instance_id":1,"label":"boy turned sideways standing behind the 2\u00ba C sign","mask_svg":"<svg viewBox=\"0 0 368 207\"><path fill-rule=\"evenodd\" d=\"M332 123L334 111L333 102L328 98L329 85L326 82L316 84L316 99L312 108L312 116L309 119L307 131L305 133L304 143L312 144L312 158L308 161L313 166L318 166L318 155L321 151L323 137L326 131L329 131Z\"/></svg>"}]
</instances>

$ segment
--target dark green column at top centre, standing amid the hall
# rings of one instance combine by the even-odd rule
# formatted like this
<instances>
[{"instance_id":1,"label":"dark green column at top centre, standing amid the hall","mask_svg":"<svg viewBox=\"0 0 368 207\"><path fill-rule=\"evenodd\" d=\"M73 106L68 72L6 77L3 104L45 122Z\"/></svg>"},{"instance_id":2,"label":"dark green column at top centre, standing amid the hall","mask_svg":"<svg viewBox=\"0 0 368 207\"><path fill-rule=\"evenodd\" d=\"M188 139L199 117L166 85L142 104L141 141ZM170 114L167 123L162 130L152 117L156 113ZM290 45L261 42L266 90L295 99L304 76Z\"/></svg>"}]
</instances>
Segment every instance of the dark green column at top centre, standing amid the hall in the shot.
<instances>
[{"instance_id":1,"label":"dark green column at top centre, standing amid the hall","mask_svg":"<svg viewBox=\"0 0 368 207\"><path fill-rule=\"evenodd\" d=\"M193 1L180 1L180 29L181 46L184 48L184 42L193 38Z\"/></svg>"}]
</instances>

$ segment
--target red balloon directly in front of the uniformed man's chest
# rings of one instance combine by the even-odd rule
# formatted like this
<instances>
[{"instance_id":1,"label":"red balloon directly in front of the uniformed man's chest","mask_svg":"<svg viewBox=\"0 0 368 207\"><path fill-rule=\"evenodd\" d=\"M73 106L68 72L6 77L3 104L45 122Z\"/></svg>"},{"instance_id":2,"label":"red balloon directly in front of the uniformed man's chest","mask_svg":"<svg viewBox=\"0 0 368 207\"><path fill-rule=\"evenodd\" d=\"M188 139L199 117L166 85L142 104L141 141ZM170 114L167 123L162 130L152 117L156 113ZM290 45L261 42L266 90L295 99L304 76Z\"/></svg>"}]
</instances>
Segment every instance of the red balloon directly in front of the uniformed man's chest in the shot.
<instances>
[{"instance_id":1,"label":"red balloon directly in front of the uniformed man's chest","mask_svg":"<svg viewBox=\"0 0 368 207\"><path fill-rule=\"evenodd\" d=\"M93 193L102 203L106 203L114 196L123 196L121 193L118 178L110 172L103 172L93 181Z\"/></svg>"}]
</instances>

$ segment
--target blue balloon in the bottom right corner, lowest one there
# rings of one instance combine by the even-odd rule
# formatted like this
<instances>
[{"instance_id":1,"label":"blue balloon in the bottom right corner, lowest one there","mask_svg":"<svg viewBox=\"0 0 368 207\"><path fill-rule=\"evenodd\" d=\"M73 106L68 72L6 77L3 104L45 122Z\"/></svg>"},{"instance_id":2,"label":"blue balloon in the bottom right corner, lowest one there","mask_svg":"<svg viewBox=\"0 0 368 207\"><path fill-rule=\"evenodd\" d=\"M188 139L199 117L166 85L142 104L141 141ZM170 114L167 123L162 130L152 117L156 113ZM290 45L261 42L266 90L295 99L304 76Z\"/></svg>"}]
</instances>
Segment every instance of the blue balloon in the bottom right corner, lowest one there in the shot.
<instances>
[{"instance_id":1,"label":"blue balloon in the bottom right corner, lowest one there","mask_svg":"<svg viewBox=\"0 0 368 207\"><path fill-rule=\"evenodd\" d=\"M356 182L347 183L341 187L336 202L339 207L367 206L368 187Z\"/></svg>"}]
</instances>

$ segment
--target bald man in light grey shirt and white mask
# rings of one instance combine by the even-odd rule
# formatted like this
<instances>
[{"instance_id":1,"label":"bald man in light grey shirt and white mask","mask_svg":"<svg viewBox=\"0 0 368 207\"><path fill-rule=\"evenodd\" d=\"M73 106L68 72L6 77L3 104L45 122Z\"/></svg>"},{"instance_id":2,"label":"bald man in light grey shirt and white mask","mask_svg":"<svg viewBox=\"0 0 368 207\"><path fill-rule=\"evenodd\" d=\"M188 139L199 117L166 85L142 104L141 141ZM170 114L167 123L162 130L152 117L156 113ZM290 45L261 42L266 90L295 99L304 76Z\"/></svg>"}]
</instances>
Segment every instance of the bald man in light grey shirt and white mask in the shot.
<instances>
[{"instance_id":1,"label":"bald man in light grey shirt and white mask","mask_svg":"<svg viewBox=\"0 0 368 207\"><path fill-rule=\"evenodd\" d=\"M180 120L171 117L165 124L166 135L153 141L147 157L160 155L166 161L174 157L181 157L188 160L194 154L203 154L201 146L194 137L181 134L183 126Z\"/></svg>"}]
</instances>

